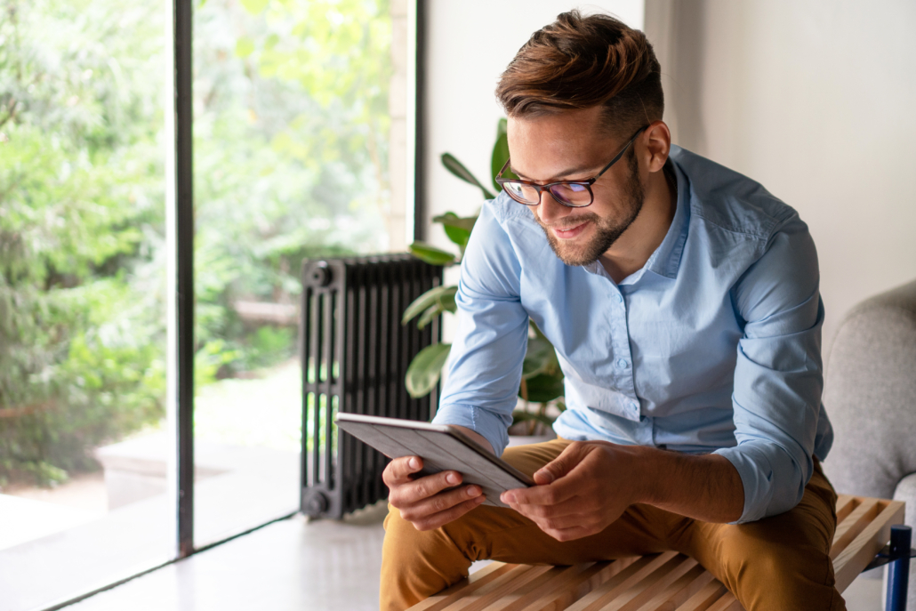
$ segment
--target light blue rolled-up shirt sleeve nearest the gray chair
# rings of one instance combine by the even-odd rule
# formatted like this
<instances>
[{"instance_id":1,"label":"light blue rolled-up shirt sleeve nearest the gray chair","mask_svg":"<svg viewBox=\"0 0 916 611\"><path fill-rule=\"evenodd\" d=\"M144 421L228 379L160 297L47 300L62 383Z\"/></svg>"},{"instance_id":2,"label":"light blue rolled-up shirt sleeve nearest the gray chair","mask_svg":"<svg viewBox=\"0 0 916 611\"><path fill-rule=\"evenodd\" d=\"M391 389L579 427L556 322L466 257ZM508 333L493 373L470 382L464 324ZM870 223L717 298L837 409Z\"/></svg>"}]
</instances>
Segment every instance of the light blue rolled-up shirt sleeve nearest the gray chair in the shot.
<instances>
[{"instance_id":1,"label":"light blue rolled-up shirt sleeve nearest the gray chair","mask_svg":"<svg viewBox=\"0 0 916 611\"><path fill-rule=\"evenodd\" d=\"M735 386L737 445L716 451L735 465L745 503L736 523L798 505L811 478L823 391L817 253L792 214L732 290L745 323Z\"/></svg>"}]
</instances>

